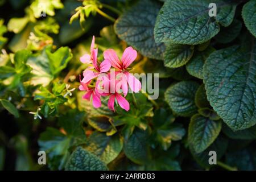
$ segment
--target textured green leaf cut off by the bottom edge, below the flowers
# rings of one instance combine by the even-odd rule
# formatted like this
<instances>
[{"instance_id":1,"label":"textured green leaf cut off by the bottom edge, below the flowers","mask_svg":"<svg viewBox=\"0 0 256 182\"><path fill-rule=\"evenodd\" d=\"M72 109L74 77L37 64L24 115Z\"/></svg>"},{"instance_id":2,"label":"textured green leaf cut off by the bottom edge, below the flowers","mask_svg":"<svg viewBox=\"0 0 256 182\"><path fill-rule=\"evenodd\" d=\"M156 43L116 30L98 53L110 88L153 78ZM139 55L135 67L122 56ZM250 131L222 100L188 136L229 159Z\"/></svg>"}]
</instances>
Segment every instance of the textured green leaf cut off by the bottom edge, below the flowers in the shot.
<instances>
[{"instance_id":1,"label":"textured green leaf cut off by the bottom edge, below the flowers","mask_svg":"<svg viewBox=\"0 0 256 182\"><path fill-rule=\"evenodd\" d=\"M106 171L106 165L94 154L77 147L70 156L66 171Z\"/></svg>"}]
</instances>

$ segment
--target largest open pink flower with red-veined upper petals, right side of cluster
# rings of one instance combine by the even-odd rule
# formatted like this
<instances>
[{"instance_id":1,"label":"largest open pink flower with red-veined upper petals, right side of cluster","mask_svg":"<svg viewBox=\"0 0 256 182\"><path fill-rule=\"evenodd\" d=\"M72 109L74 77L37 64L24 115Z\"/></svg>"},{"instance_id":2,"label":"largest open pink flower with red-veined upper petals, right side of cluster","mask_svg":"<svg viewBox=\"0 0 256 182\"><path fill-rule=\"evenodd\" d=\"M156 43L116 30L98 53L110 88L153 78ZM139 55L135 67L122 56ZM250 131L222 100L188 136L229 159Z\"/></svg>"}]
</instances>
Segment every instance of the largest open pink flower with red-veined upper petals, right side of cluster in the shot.
<instances>
[{"instance_id":1,"label":"largest open pink flower with red-veined upper petals, right side of cluster","mask_svg":"<svg viewBox=\"0 0 256 182\"><path fill-rule=\"evenodd\" d=\"M119 60L117 53L115 53L113 49L107 49L104 51L104 58L110 61L112 67L118 69L120 73L124 74L122 78L122 89L125 96L128 92L127 83L133 92L139 92L139 90L141 90L141 82L126 70L129 65L133 63L136 57L137 51L132 47L127 47L125 49L121 60Z\"/></svg>"}]
</instances>

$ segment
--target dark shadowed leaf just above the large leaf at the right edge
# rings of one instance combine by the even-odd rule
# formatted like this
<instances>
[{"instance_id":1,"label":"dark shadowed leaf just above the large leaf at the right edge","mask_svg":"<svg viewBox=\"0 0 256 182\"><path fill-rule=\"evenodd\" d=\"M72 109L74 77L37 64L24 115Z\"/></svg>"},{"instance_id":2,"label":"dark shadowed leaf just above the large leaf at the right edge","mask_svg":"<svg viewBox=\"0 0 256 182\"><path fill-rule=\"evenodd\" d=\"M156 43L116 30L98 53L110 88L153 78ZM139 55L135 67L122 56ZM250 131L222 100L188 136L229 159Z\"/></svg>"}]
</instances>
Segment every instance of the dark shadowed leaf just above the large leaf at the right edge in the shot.
<instances>
[{"instance_id":1,"label":"dark shadowed leaf just above the large leaf at the right edge","mask_svg":"<svg viewBox=\"0 0 256 182\"><path fill-rule=\"evenodd\" d=\"M228 27L221 27L221 31L214 37L218 43L226 44L232 42L240 34L242 22L234 19Z\"/></svg>"}]
</instances>

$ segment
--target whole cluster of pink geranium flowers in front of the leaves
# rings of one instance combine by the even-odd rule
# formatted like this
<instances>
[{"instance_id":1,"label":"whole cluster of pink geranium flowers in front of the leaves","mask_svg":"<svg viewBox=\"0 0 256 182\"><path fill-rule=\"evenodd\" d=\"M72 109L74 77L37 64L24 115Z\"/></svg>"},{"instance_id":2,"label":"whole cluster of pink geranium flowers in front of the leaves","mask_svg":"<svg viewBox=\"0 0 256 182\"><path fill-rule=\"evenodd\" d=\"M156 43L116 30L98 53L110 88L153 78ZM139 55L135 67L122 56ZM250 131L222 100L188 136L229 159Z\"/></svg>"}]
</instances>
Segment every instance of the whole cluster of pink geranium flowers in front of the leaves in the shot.
<instances>
[{"instance_id":1,"label":"whole cluster of pink geranium flowers in front of the leaves","mask_svg":"<svg viewBox=\"0 0 256 182\"><path fill-rule=\"evenodd\" d=\"M115 111L114 103L117 101L122 109L128 111L130 105L125 97L129 88L131 92L141 90L141 82L128 71L129 65L137 57L137 51L132 47L126 48L120 60L113 49L107 49L104 51L104 61L100 63L94 42L93 36L90 55L80 57L82 63L89 64L83 72L84 78L80 78L79 89L85 91L82 98L92 100L93 106L98 108L101 106L101 97L109 97L109 109Z\"/></svg>"}]
</instances>

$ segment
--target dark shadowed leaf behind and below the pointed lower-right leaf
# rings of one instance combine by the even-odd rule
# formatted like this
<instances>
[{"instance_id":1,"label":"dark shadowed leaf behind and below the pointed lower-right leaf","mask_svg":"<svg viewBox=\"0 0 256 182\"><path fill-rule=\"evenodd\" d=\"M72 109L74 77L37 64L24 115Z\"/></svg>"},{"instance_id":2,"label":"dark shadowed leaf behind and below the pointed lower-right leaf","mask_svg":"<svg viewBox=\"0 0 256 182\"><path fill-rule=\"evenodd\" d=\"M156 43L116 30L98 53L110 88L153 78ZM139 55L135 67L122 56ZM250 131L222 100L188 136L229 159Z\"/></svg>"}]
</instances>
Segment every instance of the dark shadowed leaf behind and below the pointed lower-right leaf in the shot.
<instances>
[{"instance_id":1,"label":"dark shadowed leaf behind and below the pointed lower-right leaf","mask_svg":"<svg viewBox=\"0 0 256 182\"><path fill-rule=\"evenodd\" d=\"M209 151L216 151L217 153L217 160L220 160L222 156L225 154L226 149L228 148L228 140L222 137L218 137L208 148L207 150L196 153L195 150L191 145L189 145L189 150L193 158L196 160L200 166L204 168L213 167L213 165L209 164Z\"/></svg>"}]
</instances>

